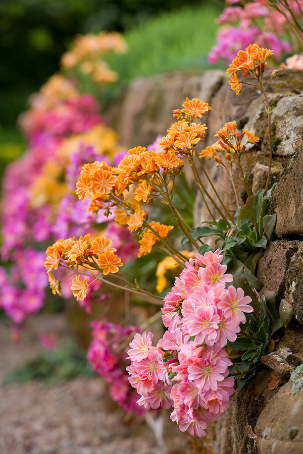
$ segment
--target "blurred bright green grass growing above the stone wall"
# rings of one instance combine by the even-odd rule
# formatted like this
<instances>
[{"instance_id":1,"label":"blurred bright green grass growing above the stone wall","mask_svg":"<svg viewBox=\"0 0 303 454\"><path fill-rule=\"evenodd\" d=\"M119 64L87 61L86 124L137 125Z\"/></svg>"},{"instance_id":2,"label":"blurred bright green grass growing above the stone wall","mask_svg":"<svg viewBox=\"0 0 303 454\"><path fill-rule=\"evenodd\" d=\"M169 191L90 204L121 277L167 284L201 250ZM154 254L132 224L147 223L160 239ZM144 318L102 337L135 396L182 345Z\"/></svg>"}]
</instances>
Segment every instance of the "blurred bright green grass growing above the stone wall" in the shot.
<instances>
[{"instance_id":1,"label":"blurred bright green grass growing above the stone wall","mask_svg":"<svg viewBox=\"0 0 303 454\"><path fill-rule=\"evenodd\" d=\"M207 54L215 43L221 9L214 3L164 13L125 33L128 52L111 55L118 72L116 87L134 77L149 77L175 70L210 68Z\"/></svg>"}]
</instances>

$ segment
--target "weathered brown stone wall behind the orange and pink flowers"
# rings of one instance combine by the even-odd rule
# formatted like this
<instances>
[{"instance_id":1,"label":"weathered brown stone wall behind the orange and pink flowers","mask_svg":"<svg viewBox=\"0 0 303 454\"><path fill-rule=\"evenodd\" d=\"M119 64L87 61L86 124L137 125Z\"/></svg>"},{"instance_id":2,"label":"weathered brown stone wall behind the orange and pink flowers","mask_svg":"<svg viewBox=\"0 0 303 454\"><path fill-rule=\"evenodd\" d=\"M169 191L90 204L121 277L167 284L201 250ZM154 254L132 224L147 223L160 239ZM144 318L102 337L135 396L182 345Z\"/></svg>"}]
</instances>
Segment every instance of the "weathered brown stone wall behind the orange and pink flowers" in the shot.
<instances>
[{"instance_id":1,"label":"weathered brown stone wall behind the orange and pink flowers","mask_svg":"<svg viewBox=\"0 0 303 454\"><path fill-rule=\"evenodd\" d=\"M231 408L205 440L194 439L191 453L269 454L303 452L303 390L292 394L290 374L303 360L303 74L285 70L268 87L272 107L274 165L272 181L277 181L269 203L269 213L277 214L276 238L259 260L258 278L263 291L273 291L276 305L286 299L293 306L290 325L263 357L268 367L244 391L232 398ZM204 147L215 142L216 131L236 120L239 129L255 132L261 141L245 153L245 170L254 192L264 187L268 160L267 118L261 93L243 86L238 96L230 89L223 71L201 74L171 73L134 80L117 97L109 112L110 123L127 148L153 143L166 135L174 121L171 111L186 96L199 97L212 106L204 117L208 134ZM229 180L221 169L208 164L216 188L234 210L235 200ZM242 201L246 194L237 185ZM208 219L197 196L195 224ZM189 451L188 451L189 452Z\"/></svg>"}]
</instances>

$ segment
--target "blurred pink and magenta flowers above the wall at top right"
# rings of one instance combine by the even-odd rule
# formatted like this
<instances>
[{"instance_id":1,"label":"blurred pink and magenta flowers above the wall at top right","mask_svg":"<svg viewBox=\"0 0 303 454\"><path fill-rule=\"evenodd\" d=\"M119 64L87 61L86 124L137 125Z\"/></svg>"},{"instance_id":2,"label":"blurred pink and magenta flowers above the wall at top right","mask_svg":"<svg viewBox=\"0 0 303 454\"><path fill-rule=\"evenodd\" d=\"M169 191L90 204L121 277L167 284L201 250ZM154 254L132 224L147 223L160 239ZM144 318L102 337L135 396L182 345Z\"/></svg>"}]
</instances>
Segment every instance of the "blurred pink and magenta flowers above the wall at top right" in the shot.
<instances>
[{"instance_id":1,"label":"blurred pink and magenta flowers above the wall at top right","mask_svg":"<svg viewBox=\"0 0 303 454\"><path fill-rule=\"evenodd\" d=\"M237 5L233 5L236 3ZM228 63L234 58L239 47L247 47L258 41L265 47L274 50L276 58L281 60L285 52L289 52L296 43L285 41L289 33L292 16L299 17L303 3L301 0L290 0L289 8L284 2L268 2L267 0L249 0L248 2L227 1L227 7L217 20L221 25L217 43L212 47L208 59L216 63L223 59ZM278 8L275 8L276 4Z\"/></svg>"}]
</instances>

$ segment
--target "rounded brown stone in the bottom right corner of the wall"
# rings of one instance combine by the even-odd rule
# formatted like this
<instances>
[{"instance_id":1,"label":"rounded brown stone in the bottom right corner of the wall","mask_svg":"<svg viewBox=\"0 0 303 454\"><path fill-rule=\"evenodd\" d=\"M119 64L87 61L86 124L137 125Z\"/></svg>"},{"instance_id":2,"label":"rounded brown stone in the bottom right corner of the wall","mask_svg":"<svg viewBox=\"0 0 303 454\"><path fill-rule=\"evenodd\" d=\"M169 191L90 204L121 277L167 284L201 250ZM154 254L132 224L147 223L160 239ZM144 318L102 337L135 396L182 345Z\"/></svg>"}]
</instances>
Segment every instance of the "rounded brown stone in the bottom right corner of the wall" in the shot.
<instances>
[{"instance_id":1,"label":"rounded brown stone in the bottom right corner of the wall","mask_svg":"<svg viewBox=\"0 0 303 454\"><path fill-rule=\"evenodd\" d=\"M255 428L260 454L303 452L303 389L292 394L289 381L262 411Z\"/></svg>"}]
</instances>

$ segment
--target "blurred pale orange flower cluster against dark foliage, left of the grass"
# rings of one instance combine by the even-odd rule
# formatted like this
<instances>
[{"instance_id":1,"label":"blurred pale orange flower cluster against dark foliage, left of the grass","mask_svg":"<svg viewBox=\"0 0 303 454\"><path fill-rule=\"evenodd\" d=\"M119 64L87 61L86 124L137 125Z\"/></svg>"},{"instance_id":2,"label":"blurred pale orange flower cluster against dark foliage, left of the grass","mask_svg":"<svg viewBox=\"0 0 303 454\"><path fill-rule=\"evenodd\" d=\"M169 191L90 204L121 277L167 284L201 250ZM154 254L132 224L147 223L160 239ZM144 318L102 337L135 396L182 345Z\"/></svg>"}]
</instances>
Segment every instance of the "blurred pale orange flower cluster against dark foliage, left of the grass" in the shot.
<instances>
[{"instance_id":1,"label":"blurred pale orange flower cluster against dark foliage, left of the grass","mask_svg":"<svg viewBox=\"0 0 303 454\"><path fill-rule=\"evenodd\" d=\"M64 69L77 67L98 84L115 82L118 74L110 69L104 56L110 52L124 53L126 49L123 36L117 32L78 35L72 48L62 55L61 64Z\"/></svg>"}]
</instances>

